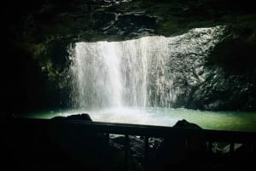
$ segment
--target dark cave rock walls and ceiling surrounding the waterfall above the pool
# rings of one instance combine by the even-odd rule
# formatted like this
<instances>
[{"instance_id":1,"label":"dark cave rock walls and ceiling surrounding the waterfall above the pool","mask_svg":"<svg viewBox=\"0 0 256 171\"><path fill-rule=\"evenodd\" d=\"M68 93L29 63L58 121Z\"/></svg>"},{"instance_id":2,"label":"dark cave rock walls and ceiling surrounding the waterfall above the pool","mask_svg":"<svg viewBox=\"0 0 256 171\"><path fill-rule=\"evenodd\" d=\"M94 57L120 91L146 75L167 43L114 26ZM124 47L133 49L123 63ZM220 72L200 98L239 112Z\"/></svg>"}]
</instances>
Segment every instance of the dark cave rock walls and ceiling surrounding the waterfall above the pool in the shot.
<instances>
[{"instance_id":1,"label":"dark cave rock walls and ceiling surrounding the waterfall above the pool","mask_svg":"<svg viewBox=\"0 0 256 171\"><path fill-rule=\"evenodd\" d=\"M5 2L3 49L8 53L1 67L1 112L70 107L67 49L76 42L171 37L208 26L228 29L205 59L209 64L204 71L194 68L189 71L193 77L182 75L177 82L186 91L174 107L255 111L254 9L248 0ZM198 78L204 73L207 79L201 83ZM189 84L189 79L196 83Z\"/></svg>"}]
</instances>

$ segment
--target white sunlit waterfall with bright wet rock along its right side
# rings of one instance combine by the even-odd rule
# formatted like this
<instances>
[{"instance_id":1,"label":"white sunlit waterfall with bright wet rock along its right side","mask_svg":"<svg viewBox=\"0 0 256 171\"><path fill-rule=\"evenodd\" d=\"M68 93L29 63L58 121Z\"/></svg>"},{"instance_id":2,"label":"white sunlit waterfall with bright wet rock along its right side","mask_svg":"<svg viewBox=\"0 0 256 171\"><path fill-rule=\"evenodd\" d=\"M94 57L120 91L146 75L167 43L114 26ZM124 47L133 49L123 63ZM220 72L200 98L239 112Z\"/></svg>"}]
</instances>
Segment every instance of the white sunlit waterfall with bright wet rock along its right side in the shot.
<instances>
[{"instance_id":1,"label":"white sunlit waterfall with bright wet rock along its right side","mask_svg":"<svg viewBox=\"0 0 256 171\"><path fill-rule=\"evenodd\" d=\"M224 26L216 26L176 37L76 43L71 54L73 106L172 107L184 91L178 83L204 80L205 59L223 31Z\"/></svg>"}]
</instances>

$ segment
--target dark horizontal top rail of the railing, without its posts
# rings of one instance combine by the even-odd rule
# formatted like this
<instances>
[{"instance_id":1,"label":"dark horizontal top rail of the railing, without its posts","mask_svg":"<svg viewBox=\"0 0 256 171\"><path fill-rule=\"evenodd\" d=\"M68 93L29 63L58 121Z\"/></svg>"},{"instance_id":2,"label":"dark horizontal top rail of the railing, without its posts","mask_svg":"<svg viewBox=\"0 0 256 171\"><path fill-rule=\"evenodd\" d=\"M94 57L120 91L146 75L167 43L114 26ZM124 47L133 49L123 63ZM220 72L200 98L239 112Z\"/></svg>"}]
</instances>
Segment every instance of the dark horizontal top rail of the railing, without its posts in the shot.
<instances>
[{"instance_id":1,"label":"dark horizontal top rail of the railing, without its posts","mask_svg":"<svg viewBox=\"0 0 256 171\"><path fill-rule=\"evenodd\" d=\"M77 128L84 133L102 133L102 134L128 134L147 137L183 137L193 138L195 136L201 137L202 140L207 141L222 141L222 142L236 142L236 143L255 143L256 133L254 132L239 132L239 131L225 131L212 129L194 129L194 128L172 128L164 126L151 126L140 124L126 124L126 123L100 123L88 122L79 120L48 120L48 119L12 119L2 120L1 123L6 123L5 126L25 125L26 127L33 126L47 126L48 128Z\"/></svg>"}]
</instances>

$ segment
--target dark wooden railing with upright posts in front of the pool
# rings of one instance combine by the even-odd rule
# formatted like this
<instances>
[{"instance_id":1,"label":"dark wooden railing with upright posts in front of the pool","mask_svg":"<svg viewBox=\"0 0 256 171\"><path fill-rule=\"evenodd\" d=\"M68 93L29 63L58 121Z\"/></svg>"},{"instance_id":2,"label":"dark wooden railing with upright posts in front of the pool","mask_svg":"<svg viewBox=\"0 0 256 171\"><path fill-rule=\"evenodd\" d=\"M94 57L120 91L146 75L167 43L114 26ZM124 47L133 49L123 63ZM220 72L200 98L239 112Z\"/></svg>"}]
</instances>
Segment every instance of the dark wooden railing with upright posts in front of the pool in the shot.
<instances>
[{"instance_id":1,"label":"dark wooden railing with upright posts in front of the pool","mask_svg":"<svg viewBox=\"0 0 256 171\"><path fill-rule=\"evenodd\" d=\"M207 129L193 129L193 128L172 128L163 126L150 126L139 124L123 124L123 123L98 123L85 122L79 120L73 121L55 121L44 119L13 119L5 120L2 123L6 125L13 123L13 125L25 125L26 127L45 127L48 128L69 128L90 134L103 134L105 137L106 151L108 151L109 134L125 135L125 170L129 170L129 135L138 135L144 137L144 161L145 169L147 169L148 161L148 139L150 137L162 137L168 139L183 138L183 140L193 140L194 137L201 137L201 140L207 143L209 153L212 152L213 142L227 142L230 143L230 151L234 151L235 143L242 143L250 146L250 152L255 152L256 133L253 132L236 132L223 130L207 130ZM189 146L189 145L188 145ZM106 155L108 156L108 155Z\"/></svg>"}]
</instances>

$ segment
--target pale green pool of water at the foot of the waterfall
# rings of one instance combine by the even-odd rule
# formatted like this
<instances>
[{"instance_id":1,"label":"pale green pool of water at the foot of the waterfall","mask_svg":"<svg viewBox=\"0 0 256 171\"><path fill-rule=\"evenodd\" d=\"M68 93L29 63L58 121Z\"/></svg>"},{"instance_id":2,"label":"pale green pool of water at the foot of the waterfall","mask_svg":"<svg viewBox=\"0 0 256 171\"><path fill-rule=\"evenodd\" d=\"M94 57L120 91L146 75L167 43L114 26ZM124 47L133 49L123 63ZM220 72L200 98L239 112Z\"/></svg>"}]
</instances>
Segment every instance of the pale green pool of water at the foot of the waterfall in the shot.
<instances>
[{"instance_id":1,"label":"pale green pool of water at the foot of the waterfall","mask_svg":"<svg viewBox=\"0 0 256 171\"><path fill-rule=\"evenodd\" d=\"M172 108L110 108L102 110L53 110L29 113L25 117L49 119L56 116L88 113L93 121L173 126L186 119L201 128L256 132L256 111L198 111Z\"/></svg>"}]
</instances>

